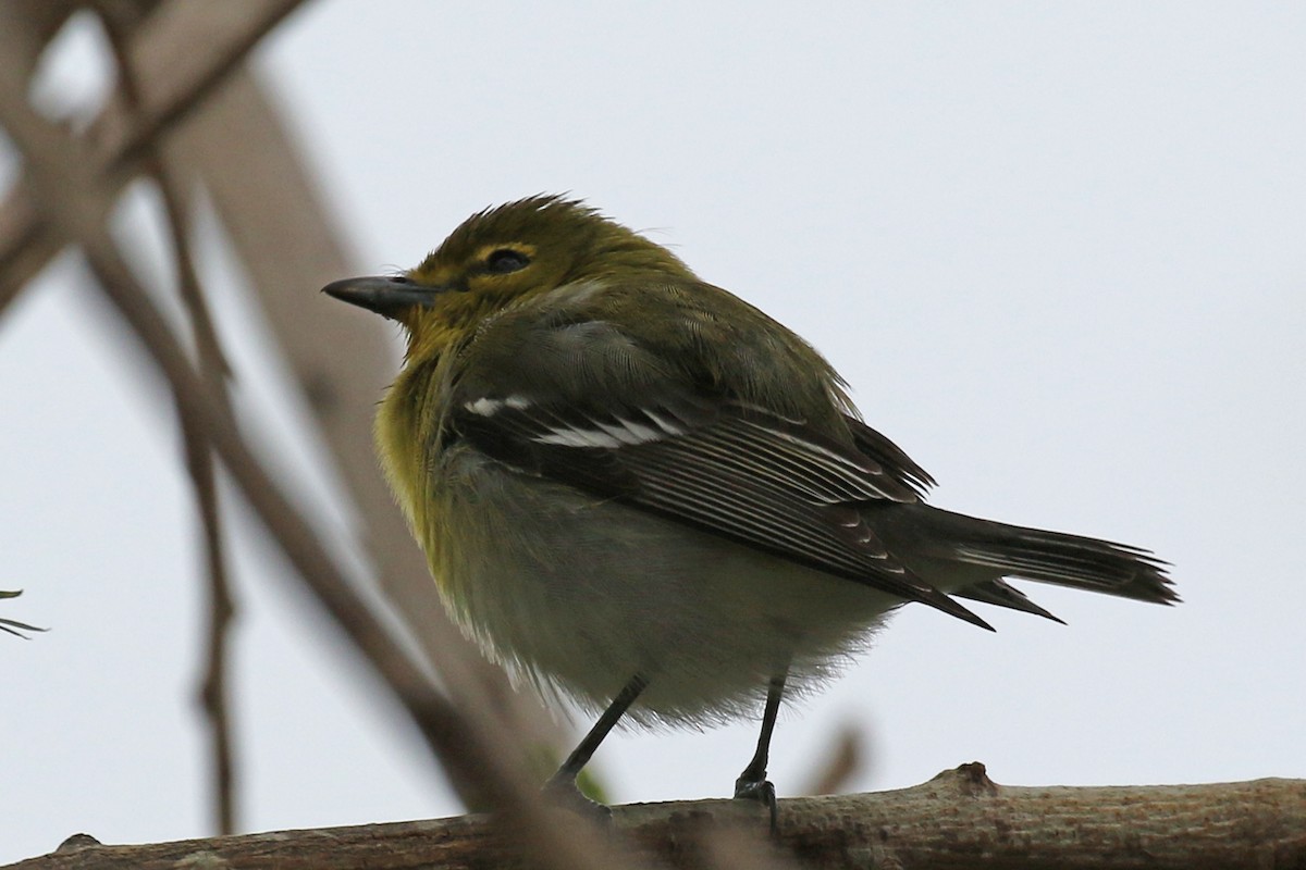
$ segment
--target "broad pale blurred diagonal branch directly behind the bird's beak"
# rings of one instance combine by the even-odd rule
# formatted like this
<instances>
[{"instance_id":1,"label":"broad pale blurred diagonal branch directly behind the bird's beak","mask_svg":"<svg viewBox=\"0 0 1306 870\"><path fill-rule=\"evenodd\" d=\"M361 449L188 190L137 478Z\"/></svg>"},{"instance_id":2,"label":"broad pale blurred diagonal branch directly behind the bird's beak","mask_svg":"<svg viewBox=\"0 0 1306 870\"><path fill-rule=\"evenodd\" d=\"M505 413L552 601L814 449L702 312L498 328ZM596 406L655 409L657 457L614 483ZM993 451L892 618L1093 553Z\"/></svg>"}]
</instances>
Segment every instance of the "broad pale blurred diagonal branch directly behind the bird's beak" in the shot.
<instances>
[{"instance_id":1,"label":"broad pale blurred diagonal branch directly behind the bird's beak","mask_svg":"<svg viewBox=\"0 0 1306 870\"><path fill-rule=\"evenodd\" d=\"M443 663L464 663L462 673L471 681L465 689L486 698L524 743L554 750L568 743L571 736L538 699L515 691L503 670L449 621L381 477L374 459L372 415L398 364L393 331L317 295L319 287L358 269L265 89L252 73L238 70L170 145L178 163L204 180L242 258L357 506L359 536L394 613L441 678L449 678Z\"/></svg>"}]
</instances>

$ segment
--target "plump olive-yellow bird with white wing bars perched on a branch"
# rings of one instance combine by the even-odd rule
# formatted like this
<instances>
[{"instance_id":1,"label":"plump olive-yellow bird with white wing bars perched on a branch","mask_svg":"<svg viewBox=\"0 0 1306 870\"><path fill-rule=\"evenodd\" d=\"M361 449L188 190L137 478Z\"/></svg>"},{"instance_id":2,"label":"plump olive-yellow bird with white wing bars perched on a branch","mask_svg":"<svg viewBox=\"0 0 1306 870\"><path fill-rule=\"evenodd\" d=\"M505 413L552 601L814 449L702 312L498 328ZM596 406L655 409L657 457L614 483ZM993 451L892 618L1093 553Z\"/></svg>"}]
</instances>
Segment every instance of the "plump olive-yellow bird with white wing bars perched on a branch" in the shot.
<instances>
[{"instance_id":1,"label":"plump olive-yellow bird with white wing bars perched on a branch","mask_svg":"<svg viewBox=\"0 0 1306 870\"><path fill-rule=\"evenodd\" d=\"M453 620L518 680L620 721L757 715L734 797L776 823L781 702L923 604L1058 620L1011 578L1173 604L1136 547L951 513L806 340L582 200L485 209L415 269L324 292L402 326L380 463Z\"/></svg>"}]
</instances>

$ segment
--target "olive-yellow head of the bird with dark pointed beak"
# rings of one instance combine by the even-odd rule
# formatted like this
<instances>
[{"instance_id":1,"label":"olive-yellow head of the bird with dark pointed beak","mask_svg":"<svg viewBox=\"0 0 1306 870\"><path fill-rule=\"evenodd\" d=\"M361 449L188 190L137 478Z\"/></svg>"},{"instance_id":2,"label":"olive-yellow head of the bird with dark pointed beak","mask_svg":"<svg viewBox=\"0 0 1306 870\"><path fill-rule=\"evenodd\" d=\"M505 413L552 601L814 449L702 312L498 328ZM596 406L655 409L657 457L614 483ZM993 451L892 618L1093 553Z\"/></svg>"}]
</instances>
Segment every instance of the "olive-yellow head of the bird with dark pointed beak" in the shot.
<instances>
[{"instance_id":1,"label":"olive-yellow head of the bird with dark pointed beak","mask_svg":"<svg viewBox=\"0 0 1306 870\"><path fill-rule=\"evenodd\" d=\"M535 196L471 215L415 269L324 291L398 321L424 343L575 282L648 277L693 279L670 250L581 201Z\"/></svg>"}]
</instances>

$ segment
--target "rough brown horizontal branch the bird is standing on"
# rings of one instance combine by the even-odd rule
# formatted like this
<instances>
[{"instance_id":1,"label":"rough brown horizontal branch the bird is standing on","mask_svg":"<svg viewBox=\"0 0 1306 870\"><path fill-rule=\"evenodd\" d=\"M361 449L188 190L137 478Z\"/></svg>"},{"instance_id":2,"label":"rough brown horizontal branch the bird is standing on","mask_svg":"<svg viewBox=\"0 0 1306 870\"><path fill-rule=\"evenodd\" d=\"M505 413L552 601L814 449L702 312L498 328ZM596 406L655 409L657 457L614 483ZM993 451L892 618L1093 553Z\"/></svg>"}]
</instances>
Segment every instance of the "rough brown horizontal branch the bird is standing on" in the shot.
<instances>
[{"instance_id":1,"label":"rough brown horizontal branch the bird is standing on","mask_svg":"<svg viewBox=\"0 0 1306 870\"><path fill-rule=\"evenodd\" d=\"M765 810L743 801L616 807L614 828L648 863L707 867L717 852L754 867L913 870L1241 870L1306 866L1306 780L1213 785L1023 788L963 764L908 789L780 802L768 843ZM722 836L725 835L725 836ZM244 870L387 867L483 870L528 866L505 856L485 820L462 817L285 831L142 847L85 845L5 870Z\"/></svg>"}]
</instances>

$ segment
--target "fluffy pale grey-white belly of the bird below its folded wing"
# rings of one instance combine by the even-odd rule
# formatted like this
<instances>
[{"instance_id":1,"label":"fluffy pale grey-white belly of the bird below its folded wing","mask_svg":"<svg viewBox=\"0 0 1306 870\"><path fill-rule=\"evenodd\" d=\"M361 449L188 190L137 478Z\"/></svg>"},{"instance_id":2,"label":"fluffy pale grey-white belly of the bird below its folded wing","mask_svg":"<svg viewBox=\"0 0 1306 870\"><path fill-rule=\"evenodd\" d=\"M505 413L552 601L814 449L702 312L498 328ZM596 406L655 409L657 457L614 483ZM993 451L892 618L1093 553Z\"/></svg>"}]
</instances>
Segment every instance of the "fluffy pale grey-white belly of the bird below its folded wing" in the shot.
<instances>
[{"instance_id":1,"label":"fluffy pale grey-white belly of the bird below its folded wing","mask_svg":"<svg viewBox=\"0 0 1306 870\"><path fill-rule=\"evenodd\" d=\"M755 712L786 660L801 694L901 604L470 449L449 451L440 477L430 556L454 617L495 657L589 707L644 674L631 710L644 724Z\"/></svg>"}]
</instances>

